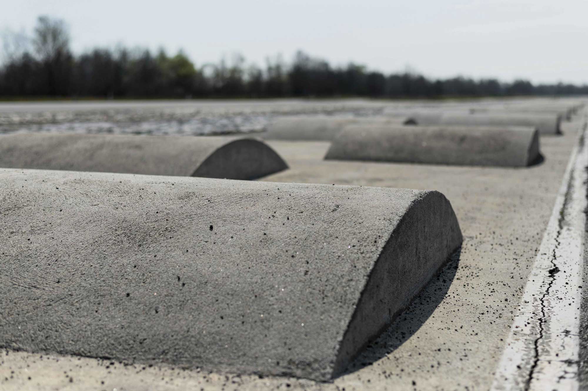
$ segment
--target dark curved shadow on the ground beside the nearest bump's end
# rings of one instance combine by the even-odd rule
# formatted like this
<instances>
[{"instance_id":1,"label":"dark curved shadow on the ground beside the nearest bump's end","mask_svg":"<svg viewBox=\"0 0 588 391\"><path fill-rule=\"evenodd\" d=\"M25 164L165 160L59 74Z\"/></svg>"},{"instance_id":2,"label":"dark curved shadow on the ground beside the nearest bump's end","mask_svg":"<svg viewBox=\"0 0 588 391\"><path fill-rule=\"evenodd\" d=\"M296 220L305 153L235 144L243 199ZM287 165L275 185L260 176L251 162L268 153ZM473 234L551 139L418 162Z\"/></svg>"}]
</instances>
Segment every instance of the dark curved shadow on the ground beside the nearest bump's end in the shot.
<instances>
[{"instance_id":1,"label":"dark curved shadow on the ground beside the nearest bump's end","mask_svg":"<svg viewBox=\"0 0 588 391\"><path fill-rule=\"evenodd\" d=\"M405 311L400 312L389 328L370 343L340 376L348 375L386 357L405 343L429 319L449 291L459 267L460 254L461 248L449 257L445 267L429 281Z\"/></svg>"}]
</instances>

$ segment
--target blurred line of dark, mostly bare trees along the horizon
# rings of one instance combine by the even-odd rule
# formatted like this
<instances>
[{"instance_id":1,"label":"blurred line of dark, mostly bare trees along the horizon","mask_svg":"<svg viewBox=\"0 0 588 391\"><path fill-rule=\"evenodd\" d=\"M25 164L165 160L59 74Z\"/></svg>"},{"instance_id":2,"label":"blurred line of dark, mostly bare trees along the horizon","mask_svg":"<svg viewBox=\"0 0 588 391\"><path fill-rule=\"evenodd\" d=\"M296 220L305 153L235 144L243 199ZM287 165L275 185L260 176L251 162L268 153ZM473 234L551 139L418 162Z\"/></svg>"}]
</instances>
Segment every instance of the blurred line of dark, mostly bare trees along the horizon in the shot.
<instances>
[{"instance_id":1,"label":"blurred line of dark, mostly bare trees along the horizon","mask_svg":"<svg viewBox=\"0 0 588 391\"><path fill-rule=\"evenodd\" d=\"M291 63L265 68L241 55L196 66L182 51L95 48L74 55L65 22L40 16L31 38L5 35L0 97L475 97L586 95L588 85L533 85L497 79L429 79L415 72L385 75L363 65L333 67L301 51Z\"/></svg>"}]
</instances>

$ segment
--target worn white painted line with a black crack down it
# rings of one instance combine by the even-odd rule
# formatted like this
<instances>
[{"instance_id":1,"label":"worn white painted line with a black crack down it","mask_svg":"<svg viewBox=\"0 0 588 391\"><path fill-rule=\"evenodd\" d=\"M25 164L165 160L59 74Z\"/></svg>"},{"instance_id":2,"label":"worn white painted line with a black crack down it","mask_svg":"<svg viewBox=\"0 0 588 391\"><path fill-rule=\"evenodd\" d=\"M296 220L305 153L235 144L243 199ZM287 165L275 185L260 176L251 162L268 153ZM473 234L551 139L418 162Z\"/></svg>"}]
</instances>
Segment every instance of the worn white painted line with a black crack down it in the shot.
<instances>
[{"instance_id":1,"label":"worn white painted line with a black crack down it","mask_svg":"<svg viewBox=\"0 0 588 391\"><path fill-rule=\"evenodd\" d=\"M588 166L585 133L583 126L491 390L576 391L579 387L579 286Z\"/></svg>"}]
</instances>

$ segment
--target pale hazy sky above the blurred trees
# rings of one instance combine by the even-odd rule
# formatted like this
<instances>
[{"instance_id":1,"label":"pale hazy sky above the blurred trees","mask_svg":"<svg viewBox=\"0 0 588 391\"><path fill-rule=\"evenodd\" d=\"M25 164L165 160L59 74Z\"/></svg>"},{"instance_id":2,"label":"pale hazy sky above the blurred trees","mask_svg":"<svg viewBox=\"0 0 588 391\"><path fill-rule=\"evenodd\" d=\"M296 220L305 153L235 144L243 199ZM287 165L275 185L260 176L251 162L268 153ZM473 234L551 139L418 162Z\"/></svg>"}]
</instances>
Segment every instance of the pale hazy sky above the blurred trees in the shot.
<instances>
[{"instance_id":1,"label":"pale hazy sky above the blurred trees","mask_svg":"<svg viewBox=\"0 0 588 391\"><path fill-rule=\"evenodd\" d=\"M0 31L65 19L72 49L163 46L196 65L298 49L383 72L588 83L586 0L0 0Z\"/></svg>"}]
</instances>

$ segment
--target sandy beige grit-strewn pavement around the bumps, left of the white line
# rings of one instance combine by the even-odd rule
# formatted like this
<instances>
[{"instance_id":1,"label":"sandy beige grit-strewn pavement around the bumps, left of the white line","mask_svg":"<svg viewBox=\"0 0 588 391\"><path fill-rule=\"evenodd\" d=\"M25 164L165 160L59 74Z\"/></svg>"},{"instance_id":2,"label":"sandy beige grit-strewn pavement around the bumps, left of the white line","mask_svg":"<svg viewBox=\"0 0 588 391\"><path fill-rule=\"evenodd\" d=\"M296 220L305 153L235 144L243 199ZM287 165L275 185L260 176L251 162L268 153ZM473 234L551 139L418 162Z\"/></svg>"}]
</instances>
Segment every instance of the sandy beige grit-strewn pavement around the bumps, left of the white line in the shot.
<instances>
[{"instance_id":1,"label":"sandy beige grit-strewn pavement around the bumps, left of the white line","mask_svg":"<svg viewBox=\"0 0 588 391\"><path fill-rule=\"evenodd\" d=\"M585 115L564 122L562 136L541 137L544 161L526 168L325 161L329 143L268 141L290 169L263 181L435 189L452 203L464 235L459 258L332 383L5 349L0 389L490 389ZM579 358L586 385L586 349Z\"/></svg>"}]
</instances>

